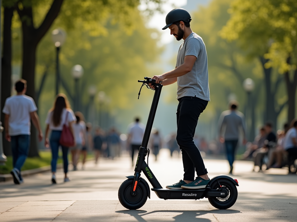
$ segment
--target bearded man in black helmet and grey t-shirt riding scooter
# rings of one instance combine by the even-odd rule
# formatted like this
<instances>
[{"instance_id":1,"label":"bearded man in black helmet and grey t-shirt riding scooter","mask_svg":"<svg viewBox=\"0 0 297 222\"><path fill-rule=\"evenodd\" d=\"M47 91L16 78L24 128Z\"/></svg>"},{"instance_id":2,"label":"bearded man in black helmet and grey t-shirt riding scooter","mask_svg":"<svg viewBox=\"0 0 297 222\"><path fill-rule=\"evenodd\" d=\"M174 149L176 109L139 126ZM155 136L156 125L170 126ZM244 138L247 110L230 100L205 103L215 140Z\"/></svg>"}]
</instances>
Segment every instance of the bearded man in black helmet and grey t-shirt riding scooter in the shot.
<instances>
[{"instance_id":1,"label":"bearded man in black helmet and grey t-shirt riding scooter","mask_svg":"<svg viewBox=\"0 0 297 222\"><path fill-rule=\"evenodd\" d=\"M202 189L210 181L200 151L193 141L200 114L209 96L208 67L205 44L190 28L191 16L185 9L173 9L166 16L166 26L176 40L184 42L178 50L176 67L152 79L163 86L177 82L177 136L184 165L184 178L168 189ZM153 88L153 86L152 86ZM194 179L195 170L197 177Z\"/></svg>"}]
</instances>

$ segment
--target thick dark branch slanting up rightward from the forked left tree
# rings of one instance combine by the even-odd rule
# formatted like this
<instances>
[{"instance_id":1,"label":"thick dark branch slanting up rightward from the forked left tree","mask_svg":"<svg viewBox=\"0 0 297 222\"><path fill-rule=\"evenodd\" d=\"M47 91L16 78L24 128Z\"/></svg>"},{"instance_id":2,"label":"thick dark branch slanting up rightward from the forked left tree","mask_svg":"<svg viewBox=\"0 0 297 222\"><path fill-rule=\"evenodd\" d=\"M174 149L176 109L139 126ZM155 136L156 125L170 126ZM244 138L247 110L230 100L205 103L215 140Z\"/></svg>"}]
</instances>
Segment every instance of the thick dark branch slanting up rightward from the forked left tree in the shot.
<instances>
[{"instance_id":1,"label":"thick dark branch slanting up rightward from the forked left tree","mask_svg":"<svg viewBox=\"0 0 297 222\"><path fill-rule=\"evenodd\" d=\"M48 31L50 26L53 24L53 21L59 15L62 3L64 0L54 0L51 5L48 13L46 14L42 24L36 29L36 39L39 42L45 33Z\"/></svg>"}]
</instances>

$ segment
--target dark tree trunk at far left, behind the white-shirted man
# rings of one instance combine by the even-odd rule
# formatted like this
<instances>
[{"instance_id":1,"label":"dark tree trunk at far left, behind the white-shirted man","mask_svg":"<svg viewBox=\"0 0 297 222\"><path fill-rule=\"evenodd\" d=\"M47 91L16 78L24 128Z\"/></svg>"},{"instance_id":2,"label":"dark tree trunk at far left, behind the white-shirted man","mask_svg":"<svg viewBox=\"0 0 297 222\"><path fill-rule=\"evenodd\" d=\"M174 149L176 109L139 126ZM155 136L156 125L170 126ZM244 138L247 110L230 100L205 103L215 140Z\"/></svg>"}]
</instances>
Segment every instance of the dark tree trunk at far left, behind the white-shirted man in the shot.
<instances>
[{"instance_id":1,"label":"dark tree trunk at far left, behind the white-shirted man","mask_svg":"<svg viewBox=\"0 0 297 222\"><path fill-rule=\"evenodd\" d=\"M2 112L5 100L11 96L11 21L14 8L4 7L3 20L3 56L2 56L2 75L1 75L1 120L4 122L4 113ZM4 123L2 124L4 126ZM5 138L5 131L3 131ZM10 142L3 139L4 155L11 156Z\"/></svg>"}]
</instances>

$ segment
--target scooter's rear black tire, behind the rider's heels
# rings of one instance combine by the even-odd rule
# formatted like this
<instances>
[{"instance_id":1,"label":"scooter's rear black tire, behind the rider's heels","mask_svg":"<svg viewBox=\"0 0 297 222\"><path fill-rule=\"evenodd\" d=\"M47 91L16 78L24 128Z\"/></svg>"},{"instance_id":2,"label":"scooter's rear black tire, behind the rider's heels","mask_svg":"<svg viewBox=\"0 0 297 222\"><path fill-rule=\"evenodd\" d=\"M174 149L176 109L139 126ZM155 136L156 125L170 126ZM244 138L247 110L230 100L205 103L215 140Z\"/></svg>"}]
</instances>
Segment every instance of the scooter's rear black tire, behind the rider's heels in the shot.
<instances>
[{"instance_id":1,"label":"scooter's rear black tire, behind the rider's heels","mask_svg":"<svg viewBox=\"0 0 297 222\"><path fill-rule=\"evenodd\" d=\"M226 189L228 191L228 196L225 198L221 197L209 197L208 201L211 205L213 205L217 209L228 209L233 206L233 204L237 200L237 188L234 185L234 183L228 179L218 179L219 183L215 181L211 185L211 189L219 189L220 185L223 189ZM219 185L220 184L220 185Z\"/></svg>"}]
</instances>

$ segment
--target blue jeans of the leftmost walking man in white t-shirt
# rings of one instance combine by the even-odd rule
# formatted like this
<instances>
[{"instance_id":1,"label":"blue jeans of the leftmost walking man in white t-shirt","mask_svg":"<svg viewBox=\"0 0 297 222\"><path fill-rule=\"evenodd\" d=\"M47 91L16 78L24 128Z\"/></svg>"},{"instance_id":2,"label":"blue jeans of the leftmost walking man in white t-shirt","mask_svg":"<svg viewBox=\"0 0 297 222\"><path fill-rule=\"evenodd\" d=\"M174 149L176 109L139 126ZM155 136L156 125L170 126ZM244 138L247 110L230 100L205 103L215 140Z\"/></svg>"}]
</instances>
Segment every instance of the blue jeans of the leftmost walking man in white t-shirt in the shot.
<instances>
[{"instance_id":1,"label":"blue jeans of the leftmost walking man in white t-shirt","mask_svg":"<svg viewBox=\"0 0 297 222\"><path fill-rule=\"evenodd\" d=\"M28 156L30 146L30 135L11 136L12 165L19 171Z\"/></svg>"}]
</instances>

